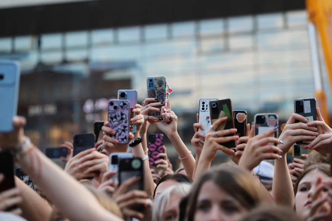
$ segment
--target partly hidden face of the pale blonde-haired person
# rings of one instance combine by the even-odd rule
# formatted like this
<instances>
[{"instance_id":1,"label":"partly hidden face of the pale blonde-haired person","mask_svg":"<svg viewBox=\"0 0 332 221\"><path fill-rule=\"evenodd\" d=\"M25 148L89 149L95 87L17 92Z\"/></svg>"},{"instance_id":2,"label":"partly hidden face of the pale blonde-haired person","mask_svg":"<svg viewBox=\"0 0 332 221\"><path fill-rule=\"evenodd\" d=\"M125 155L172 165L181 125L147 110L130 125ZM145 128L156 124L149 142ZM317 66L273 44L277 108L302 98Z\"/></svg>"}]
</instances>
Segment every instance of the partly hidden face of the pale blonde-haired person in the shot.
<instances>
[{"instance_id":1,"label":"partly hidden face of the pale blonde-haired person","mask_svg":"<svg viewBox=\"0 0 332 221\"><path fill-rule=\"evenodd\" d=\"M169 203L165 206L162 221L179 221L181 194L171 194Z\"/></svg>"}]
</instances>

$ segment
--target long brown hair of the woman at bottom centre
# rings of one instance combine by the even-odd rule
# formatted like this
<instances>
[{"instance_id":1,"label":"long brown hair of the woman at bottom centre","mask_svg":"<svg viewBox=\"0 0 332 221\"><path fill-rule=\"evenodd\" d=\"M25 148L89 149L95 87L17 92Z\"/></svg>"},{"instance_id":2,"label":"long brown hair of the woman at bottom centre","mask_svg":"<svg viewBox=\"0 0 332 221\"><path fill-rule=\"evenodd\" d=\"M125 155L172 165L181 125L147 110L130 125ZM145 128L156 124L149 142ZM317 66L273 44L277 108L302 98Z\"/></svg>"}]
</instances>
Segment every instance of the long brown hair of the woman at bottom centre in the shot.
<instances>
[{"instance_id":1,"label":"long brown hair of the woman at bottom centre","mask_svg":"<svg viewBox=\"0 0 332 221\"><path fill-rule=\"evenodd\" d=\"M225 192L236 198L247 209L254 208L262 202L274 202L270 194L262 192L261 183L250 172L233 166L219 166L207 171L194 184L189 194L187 221L194 220L197 198L203 184L207 181L212 181Z\"/></svg>"}]
</instances>

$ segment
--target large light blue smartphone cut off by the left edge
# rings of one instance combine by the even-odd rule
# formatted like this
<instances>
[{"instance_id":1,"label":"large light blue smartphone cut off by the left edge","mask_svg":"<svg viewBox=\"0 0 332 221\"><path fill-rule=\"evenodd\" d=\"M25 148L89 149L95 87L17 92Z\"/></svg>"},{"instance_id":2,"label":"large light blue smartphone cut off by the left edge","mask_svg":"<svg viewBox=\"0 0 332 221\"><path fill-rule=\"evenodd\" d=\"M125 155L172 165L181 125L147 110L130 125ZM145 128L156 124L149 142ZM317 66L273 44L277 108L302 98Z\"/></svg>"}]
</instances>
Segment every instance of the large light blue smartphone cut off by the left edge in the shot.
<instances>
[{"instance_id":1,"label":"large light blue smartphone cut off by the left edge","mask_svg":"<svg viewBox=\"0 0 332 221\"><path fill-rule=\"evenodd\" d=\"M20 73L18 62L0 60L0 132L14 130L13 117L17 114Z\"/></svg>"}]
</instances>

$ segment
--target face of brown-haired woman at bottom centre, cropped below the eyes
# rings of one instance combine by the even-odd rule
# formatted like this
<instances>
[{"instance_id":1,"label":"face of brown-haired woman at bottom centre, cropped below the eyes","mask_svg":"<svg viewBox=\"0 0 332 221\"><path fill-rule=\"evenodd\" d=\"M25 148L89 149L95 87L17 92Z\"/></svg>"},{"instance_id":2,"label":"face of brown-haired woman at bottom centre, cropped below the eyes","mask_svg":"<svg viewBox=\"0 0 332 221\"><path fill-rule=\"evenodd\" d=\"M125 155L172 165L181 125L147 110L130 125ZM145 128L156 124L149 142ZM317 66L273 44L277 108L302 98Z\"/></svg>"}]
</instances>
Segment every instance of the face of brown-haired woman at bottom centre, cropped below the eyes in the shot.
<instances>
[{"instance_id":1,"label":"face of brown-haired woman at bottom centre, cropped below the eyes","mask_svg":"<svg viewBox=\"0 0 332 221\"><path fill-rule=\"evenodd\" d=\"M237 221L247 213L237 199L212 181L202 185L196 206L194 221Z\"/></svg>"}]
</instances>

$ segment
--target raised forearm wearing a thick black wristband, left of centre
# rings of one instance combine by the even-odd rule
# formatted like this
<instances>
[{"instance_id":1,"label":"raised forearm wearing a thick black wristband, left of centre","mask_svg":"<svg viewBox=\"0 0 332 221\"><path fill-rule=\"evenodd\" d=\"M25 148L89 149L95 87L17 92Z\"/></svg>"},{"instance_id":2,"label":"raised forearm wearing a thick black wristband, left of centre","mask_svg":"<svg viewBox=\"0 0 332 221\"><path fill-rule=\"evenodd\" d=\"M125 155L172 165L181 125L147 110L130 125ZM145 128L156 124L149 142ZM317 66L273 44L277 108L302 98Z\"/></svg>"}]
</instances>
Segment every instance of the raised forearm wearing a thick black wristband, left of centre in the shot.
<instances>
[{"instance_id":1,"label":"raised forearm wearing a thick black wristband, left of centre","mask_svg":"<svg viewBox=\"0 0 332 221\"><path fill-rule=\"evenodd\" d=\"M138 133L136 133L138 134ZM138 136L135 135L134 140L137 139ZM143 139L144 140L144 139ZM132 155L137 158L143 159L147 153L144 153L142 143L137 144L136 146L131 148ZM152 173L150 170L149 159L143 161L143 170L144 170L144 189L149 195L153 195L154 192L154 182Z\"/></svg>"}]
</instances>

